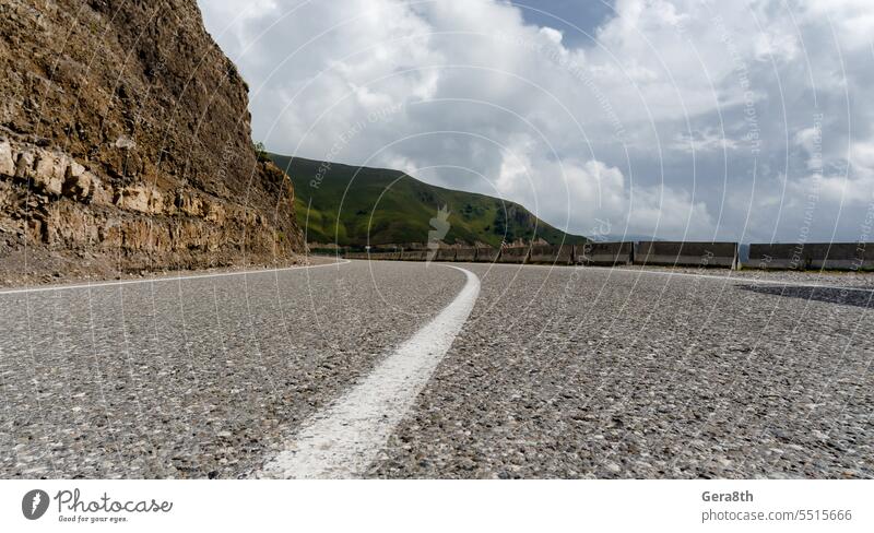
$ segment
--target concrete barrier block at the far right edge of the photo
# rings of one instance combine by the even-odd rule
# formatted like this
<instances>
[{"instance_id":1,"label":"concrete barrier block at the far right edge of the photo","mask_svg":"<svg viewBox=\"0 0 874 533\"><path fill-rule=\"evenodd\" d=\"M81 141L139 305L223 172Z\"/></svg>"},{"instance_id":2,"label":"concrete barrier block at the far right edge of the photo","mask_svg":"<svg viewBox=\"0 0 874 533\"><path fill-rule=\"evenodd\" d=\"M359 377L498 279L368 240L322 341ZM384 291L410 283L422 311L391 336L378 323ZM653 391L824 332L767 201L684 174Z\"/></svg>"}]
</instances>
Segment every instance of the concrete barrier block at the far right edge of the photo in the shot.
<instances>
[{"instance_id":1,"label":"concrete barrier block at the far right edge of the photo","mask_svg":"<svg viewBox=\"0 0 874 533\"><path fill-rule=\"evenodd\" d=\"M874 242L749 245L754 269L874 270Z\"/></svg>"}]
</instances>

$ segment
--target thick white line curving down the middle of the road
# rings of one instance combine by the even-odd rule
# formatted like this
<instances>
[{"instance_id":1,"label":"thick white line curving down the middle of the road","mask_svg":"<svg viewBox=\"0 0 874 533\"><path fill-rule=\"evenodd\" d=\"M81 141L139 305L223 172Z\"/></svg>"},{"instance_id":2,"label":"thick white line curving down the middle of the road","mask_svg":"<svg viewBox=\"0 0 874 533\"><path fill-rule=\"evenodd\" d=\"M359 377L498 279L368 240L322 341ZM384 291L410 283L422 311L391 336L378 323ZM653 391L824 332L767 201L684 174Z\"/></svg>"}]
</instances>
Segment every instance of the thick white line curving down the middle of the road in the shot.
<instances>
[{"instance_id":1,"label":"thick white line curving down the middle of the road","mask_svg":"<svg viewBox=\"0 0 874 533\"><path fill-rule=\"evenodd\" d=\"M306 421L285 451L258 477L359 477L410 411L476 303L480 279L468 281L456 299L379 364L363 381Z\"/></svg>"}]
</instances>

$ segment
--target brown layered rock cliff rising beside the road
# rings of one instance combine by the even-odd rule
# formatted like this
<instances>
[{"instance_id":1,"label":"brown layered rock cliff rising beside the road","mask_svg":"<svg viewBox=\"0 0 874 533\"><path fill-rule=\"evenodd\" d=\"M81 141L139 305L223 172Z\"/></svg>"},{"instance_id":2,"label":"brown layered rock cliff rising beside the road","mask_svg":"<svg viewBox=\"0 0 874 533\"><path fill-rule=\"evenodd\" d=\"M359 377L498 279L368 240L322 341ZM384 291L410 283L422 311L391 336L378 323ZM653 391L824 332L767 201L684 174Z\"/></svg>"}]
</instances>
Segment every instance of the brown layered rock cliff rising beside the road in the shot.
<instances>
[{"instance_id":1,"label":"brown layered rock cliff rising beside the road","mask_svg":"<svg viewBox=\"0 0 874 533\"><path fill-rule=\"evenodd\" d=\"M294 189L194 0L0 4L0 271L287 262Z\"/></svg>"}]
</instances>

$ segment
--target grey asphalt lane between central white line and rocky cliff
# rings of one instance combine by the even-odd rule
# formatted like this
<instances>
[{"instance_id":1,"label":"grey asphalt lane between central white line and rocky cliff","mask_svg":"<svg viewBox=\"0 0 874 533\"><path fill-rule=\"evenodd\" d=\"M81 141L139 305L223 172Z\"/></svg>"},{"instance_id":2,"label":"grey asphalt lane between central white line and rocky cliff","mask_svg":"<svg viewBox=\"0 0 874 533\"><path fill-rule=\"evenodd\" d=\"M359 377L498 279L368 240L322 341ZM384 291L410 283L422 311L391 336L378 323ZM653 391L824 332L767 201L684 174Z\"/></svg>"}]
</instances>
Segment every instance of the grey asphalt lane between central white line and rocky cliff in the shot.
<instances>
[{"instance_id":1,"label":"grey asphalt lane between central white line and rocky cliff","mask_svg":"<svg viewBox=\"0 0 874 533\"><path fill-rule=\"evenodd\" d=\"M0 477L237 477L439 312L404 264L0 294Z\"/></svg>"}]
</instances>

